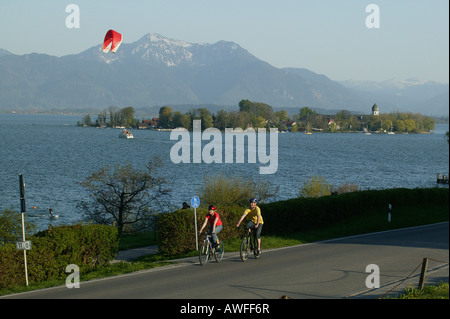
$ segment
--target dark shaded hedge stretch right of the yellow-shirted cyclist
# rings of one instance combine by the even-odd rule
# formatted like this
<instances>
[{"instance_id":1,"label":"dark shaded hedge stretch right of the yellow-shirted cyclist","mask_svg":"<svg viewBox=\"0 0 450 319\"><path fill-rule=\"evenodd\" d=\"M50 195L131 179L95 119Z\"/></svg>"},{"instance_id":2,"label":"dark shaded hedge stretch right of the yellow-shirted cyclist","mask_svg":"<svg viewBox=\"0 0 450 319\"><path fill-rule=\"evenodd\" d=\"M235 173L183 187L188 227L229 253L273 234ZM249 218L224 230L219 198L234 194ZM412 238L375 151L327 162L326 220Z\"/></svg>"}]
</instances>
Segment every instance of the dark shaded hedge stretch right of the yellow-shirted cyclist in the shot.
<instances>
[{"instance_id":1,"label":"dark shaded hedge stretch right of the yellow-shirted cyclist","mask_svg":"<svg viewBox=\"0 0 450 319\"><path fill-rule=\"evenodd\" d=\"M284 234L317 229L354 215L379 211L393 213L396 207L414 205L448 205L448 188L369 190L324 196L295 198L260 204L264 234Z\"/></svg>"}]
</instances>

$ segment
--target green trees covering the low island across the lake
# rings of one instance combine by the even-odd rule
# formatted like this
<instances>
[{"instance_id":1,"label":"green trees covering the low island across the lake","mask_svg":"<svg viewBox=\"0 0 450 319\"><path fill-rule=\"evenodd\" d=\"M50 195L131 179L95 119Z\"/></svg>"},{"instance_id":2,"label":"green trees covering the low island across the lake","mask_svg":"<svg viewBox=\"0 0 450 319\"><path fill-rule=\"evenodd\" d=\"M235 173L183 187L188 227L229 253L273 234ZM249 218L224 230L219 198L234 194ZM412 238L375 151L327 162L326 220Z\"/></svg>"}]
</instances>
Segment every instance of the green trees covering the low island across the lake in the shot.
<instances>
[{"instance_id":1,"label":"green trees covering the low island across the lake","mask_svg":"<svg viewBox=\"0 0 450 319\"><path fill-rule=\"evenodd\" d=\"M216 114L207 108L194 108L186 113L174 111L169 106L159 110L158 128L174 129L178 127L192 130L192 121L201 120L202 130L214 127L225 128L278 128L280 131L319 131L319 132L394 132L420 133L430 132L435 127L432 117L420 113L383 113L380 115L356 115L342 110L333 115L319 114L309 107L301 107L299 112L288 116L286 110L274 111L273 107L250 100L241 100L238 111L220 110ZM78 125L84 126L123 126L137 128L139 120L134 118L133 107L119 109L110 107L92 121L89 115L84 116Z\"/></svg>"}]
</instances>

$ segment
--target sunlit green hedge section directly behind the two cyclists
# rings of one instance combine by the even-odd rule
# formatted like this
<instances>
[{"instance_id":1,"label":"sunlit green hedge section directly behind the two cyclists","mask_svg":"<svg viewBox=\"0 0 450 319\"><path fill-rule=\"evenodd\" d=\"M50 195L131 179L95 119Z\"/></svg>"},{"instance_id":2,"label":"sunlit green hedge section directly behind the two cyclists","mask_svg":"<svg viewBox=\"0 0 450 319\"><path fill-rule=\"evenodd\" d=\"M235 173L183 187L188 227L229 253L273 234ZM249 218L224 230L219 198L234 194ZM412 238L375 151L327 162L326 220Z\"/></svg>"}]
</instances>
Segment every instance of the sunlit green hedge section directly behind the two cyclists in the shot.
<instances>
[{"instance_id":1,"label":"sunlit green hedge section directly behind the two cyclists","mask_svg":"<svg viewBox=\"0 0 450 319\"><path fill-rule=\"evenodd\" d=\"M236 237L237 224L244 209L239 207L217 209L223 229L219 233L220 240ZM207 209L197 209L197 229L200 230ZM204 232L209 230L209 222ZM203 235L198 237L199 246L204 240ZM159 252L165 255L177 255L195 250L195 223L193 209L180 209L175 212L161 214L158 218L158 247Z\"/></svg>"}]
</instances>

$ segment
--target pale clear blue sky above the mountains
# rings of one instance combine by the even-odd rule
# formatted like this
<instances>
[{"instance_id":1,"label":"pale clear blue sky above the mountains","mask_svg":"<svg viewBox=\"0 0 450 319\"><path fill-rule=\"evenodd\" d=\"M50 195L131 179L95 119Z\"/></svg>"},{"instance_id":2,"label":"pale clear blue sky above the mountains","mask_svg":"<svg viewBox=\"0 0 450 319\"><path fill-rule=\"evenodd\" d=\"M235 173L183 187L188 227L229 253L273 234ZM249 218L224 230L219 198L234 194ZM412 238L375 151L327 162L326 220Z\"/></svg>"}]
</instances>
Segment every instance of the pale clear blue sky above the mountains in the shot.
<instances>
[{"instance_id":1,"label":"pale clear blue sky above the mountains","mask_svg":"<svg viewBox=\"0 0 450 319\"><path fill-rule=\"evenodd\" d=\"M77 54L109 29L124 43L147 33L232 41L277 68L335 81L449 83L448 0L0 0L0 49L14 54Z\"/></svg>"}]
</instances>

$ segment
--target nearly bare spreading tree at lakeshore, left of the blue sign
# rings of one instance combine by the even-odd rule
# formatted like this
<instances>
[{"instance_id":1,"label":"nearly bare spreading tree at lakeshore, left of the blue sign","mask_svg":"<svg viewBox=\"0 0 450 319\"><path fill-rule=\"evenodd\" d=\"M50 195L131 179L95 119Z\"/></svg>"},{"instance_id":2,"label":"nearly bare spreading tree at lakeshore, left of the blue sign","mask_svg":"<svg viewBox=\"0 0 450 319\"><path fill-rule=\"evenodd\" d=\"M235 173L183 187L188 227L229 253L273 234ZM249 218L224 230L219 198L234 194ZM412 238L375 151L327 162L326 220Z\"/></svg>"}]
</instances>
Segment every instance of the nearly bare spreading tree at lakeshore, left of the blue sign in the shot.
<instances>
[{"instance_id":1,"label":"nearly bare spreading tree at lakeshore, left of the blue sign","mask_svg":"<svg viewBox=\"0 0 450 319\"><path fill-rule=\"evenodd\" d=\"M127 225L148 223L157 207L156 199L168 194L166 180L158 177L162 167L159 158L153 158L147 170L133 169L130 163L101 168L86 178L86 187L92 200L81 202L85 216L100 224L117 224L119 235ZM159 200L158 200L159 201Z\"/></svg>"}]
</instances>

